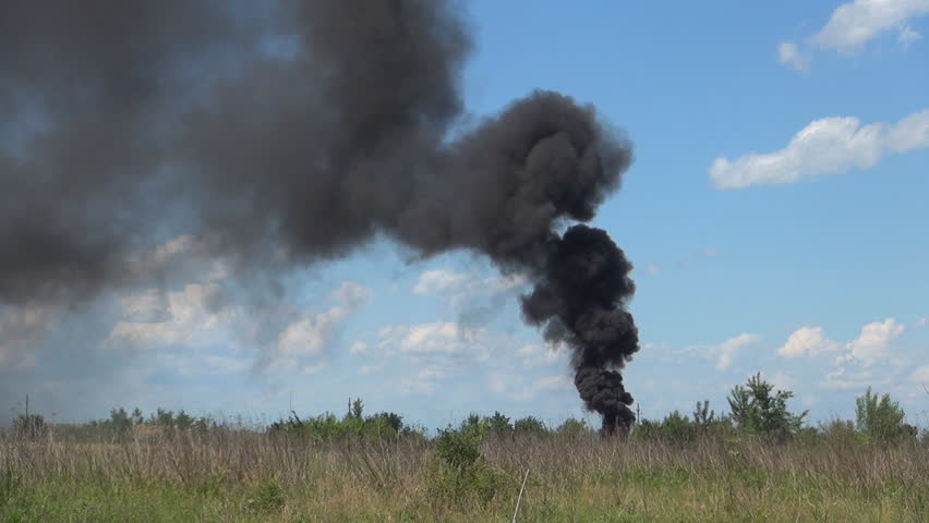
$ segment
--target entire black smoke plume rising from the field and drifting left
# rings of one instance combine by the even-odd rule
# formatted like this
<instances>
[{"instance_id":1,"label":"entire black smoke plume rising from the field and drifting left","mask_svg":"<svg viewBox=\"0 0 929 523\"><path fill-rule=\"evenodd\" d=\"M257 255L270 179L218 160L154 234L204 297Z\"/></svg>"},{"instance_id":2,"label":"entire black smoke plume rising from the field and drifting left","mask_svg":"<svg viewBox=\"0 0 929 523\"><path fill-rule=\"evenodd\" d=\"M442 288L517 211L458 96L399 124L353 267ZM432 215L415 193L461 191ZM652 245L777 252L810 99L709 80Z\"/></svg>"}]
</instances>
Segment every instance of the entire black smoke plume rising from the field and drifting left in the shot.
<instances>
[{"instance_id":1,"label":"entire black smoke plume rising from the field and drifting left","mask_svg":"<svg viewBox=\"0 0 929 523\"><path fill-rule=\"evenodd\" d=\"M526 317L572 349L604 427L628 425L631 266L604 231L558 231L631 146L553 92L466 124L469 50L435 0L0 2L0 303L125 284L180 233L253 272L376 235L470 250L529 275Z\"/></svg>"}]
</instances>

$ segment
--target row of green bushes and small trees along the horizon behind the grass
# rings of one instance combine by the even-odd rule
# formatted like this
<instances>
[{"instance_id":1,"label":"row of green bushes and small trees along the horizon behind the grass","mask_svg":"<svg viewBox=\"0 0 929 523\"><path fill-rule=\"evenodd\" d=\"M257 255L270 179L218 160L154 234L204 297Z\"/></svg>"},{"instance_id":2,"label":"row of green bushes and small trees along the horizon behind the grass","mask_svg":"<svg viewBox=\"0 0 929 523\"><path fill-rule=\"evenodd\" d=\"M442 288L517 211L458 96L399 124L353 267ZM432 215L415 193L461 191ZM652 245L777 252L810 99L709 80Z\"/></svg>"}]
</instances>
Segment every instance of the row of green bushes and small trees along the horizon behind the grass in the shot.
<instances>
[{"instance_id":1,"label":"row of green bushes and small trees along the horizon behind the grass","mask_svg":"<svg viewBox=\"0 0 929 523\"><path fill-rule=\"evenodd\" d=\"M788 409L788 400L793 397L792 391L779 390L762 379L760 374L756 374L745 385L737 385L731 390L726 398L728 412L716 413L710 408L709 401L698 401L689 416L674 411L661 419L639 419L628 437L687 442L707 436L751 436L774 442L825 438L861 443L893 443L919 438L918 428L906 423L905 413L898 402L893 401L890 394L879 394L870 388L856 399L854 421L833 419L817 427L806 424L809 411L795 413ZM157 409L145 416L138 408L131 412L119 408L112 409L108 418L93 421L80 428L121 436L129 435L135 427L153 427L161 431L205 431L222 425L209 416L192 416L183 410L174 412ZM20 414L12 428L20 437L40 438L46 436L48 426L40 414ZM266 431L272 436L293 436L319 441L400 437L430 439L424 427L407 424L403 416L397 413L378 412L365 415L364 402L361 399L349 400L347 412L342 416L325 413L300 417L292 411L289 417L268 425ZM568 418L548 427L535 416L511 419L500 412L495 412L490 416L472 413L457 427L448 426L439 430L436 437L441 438L444 434L450 434L449 431L478 438L516 438L524 435L579 437L595 430L584 419ZM929 433L924 431L922 439L929 440Z\"/></svg>"}]
</instances>

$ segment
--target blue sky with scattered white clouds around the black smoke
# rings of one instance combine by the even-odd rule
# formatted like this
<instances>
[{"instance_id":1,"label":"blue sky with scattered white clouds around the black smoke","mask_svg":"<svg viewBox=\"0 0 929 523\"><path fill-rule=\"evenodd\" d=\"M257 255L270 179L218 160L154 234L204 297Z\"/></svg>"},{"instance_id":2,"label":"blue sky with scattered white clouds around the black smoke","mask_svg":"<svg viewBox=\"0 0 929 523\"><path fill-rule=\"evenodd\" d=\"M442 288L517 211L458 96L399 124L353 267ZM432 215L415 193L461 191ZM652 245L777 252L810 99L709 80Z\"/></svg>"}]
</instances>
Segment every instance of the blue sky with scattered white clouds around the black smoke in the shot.
<instances>
[{"instance_id":1,"label":"blue sky with scattered white clouds around the black smoke","mask_svg":"<svg viewBox=\"0 0 929 523\"><path fill-rule=\"evenodd\" d=\"M473 118L556 89L635 143L594 224L636 266L642 350L625 376L643 415L725 410L762 372L816 421L850 416L870 385L929 424L929 2L462 4ZM269 332L254 304L210 305L236 294L222 260L189 275L94 314L4 309L22 332L0 345L4 376L61 419L119 405L272 419L349 397L427 427L584 415L565 351L520 320L522 281L468 253L417 260L383 241L282 277Z\"/></svg>"}]
</instances>

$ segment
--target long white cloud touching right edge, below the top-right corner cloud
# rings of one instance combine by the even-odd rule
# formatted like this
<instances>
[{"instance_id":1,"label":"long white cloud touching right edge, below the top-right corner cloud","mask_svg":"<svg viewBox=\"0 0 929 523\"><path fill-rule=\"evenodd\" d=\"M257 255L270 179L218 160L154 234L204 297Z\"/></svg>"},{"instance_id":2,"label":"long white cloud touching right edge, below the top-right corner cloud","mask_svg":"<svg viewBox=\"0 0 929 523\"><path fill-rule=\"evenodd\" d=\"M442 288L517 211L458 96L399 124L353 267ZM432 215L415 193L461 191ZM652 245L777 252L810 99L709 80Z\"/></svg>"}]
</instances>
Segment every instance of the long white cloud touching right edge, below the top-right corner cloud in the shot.
<instances>
[{"instance_id":1,"label":"long white cloud touching right edge, below the top-right corner cloud","mask_svg":"<svg viewBox=\"0 0 929 523\"><path fill-rule=\"evenodd\" d=\"M881 157L929 147L929 109L896 123L862 124L854 117L816 120L781 150L716 158L710 178L717 188L794 183L821 174L867 169Z\"/></svg>"}]
</instances>

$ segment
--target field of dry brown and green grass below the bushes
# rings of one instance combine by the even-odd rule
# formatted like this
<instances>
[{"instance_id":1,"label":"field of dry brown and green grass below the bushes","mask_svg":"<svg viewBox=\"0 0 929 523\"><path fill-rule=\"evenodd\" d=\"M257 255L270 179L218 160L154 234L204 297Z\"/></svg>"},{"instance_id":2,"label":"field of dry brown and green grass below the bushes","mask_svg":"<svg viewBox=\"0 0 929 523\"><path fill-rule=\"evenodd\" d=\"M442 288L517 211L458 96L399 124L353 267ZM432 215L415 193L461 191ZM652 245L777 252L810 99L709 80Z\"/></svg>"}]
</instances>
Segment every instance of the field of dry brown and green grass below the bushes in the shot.
<instances>
[{"instance_id":1,"label":"field of dry brown and green grass below the bushes","mask_svg":"<svg viewBox=\"0 0 929 523\"><path fill-rule=\"evenodd\" d=\"M3 522L929 521L929 449L488 438L467 471L423 438L313 443L219 428L3 436Z\"/></svg>"}]
</instances>

